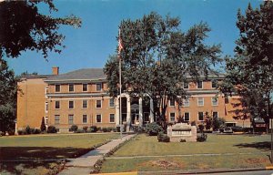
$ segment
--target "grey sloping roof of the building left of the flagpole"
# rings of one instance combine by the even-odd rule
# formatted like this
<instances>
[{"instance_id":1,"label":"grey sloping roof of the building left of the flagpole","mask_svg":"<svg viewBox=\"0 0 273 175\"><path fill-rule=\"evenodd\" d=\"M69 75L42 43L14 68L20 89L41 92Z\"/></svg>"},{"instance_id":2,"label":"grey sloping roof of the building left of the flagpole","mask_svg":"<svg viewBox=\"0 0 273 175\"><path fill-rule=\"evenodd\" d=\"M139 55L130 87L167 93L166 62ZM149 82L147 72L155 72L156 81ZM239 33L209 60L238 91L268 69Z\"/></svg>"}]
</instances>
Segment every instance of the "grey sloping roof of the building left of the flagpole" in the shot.
<instances>
[{"instance_id":1,"label":"grey sloping roof of the building left of the flagpole","mask_svg":"<svg viewBox=\"0 0 273 175\"><path fill-rule=\"evenodd\" d=\"M106 79L103 68L82 68L66 74L49 77L45 81L66 81L66 80L99 80Z\"/></svg>"}]
</instances>

